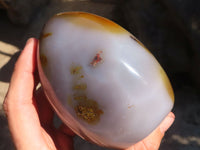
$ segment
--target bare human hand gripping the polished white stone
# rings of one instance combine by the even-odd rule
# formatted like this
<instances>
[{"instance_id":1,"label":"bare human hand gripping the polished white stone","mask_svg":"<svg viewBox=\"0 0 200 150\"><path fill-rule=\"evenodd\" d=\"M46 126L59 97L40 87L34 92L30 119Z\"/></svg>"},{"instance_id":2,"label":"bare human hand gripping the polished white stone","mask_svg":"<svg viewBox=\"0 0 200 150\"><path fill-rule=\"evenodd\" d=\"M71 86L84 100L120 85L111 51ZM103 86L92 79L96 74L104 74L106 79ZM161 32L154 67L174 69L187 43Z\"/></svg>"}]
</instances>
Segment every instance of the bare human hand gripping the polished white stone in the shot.
<instances>
[{"instance_id":1,"label":"bare human hand gripping the polished white stone","mask_svg":"<svg viewBox=\"0 0 200 150\"><path fill-rule=\"evenodd\" d=\"M67 126L53 125L54 112L39 83L36 65L38 40L31 38L22 51L4 100L9 129L19 150L73 150L73 136ZM164 133L174 122L170 112L148 137L126 150L157 150Z\"/></svg>"}]
</instances>

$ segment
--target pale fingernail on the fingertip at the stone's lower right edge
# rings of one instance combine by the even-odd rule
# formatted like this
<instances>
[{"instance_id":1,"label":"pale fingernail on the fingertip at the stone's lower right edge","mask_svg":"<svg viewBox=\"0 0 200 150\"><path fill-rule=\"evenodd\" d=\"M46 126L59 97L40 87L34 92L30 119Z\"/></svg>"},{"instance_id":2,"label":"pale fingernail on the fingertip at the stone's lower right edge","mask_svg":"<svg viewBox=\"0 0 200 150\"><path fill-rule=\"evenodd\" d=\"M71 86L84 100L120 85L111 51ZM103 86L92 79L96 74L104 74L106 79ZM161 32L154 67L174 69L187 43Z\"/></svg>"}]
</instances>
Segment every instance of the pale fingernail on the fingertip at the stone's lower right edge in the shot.
<instances>
[{"instance_id":1,"label":"pale fingernail on the fingertip at the stone's lower right edge","mask_svg":"<svg viewBox=\"0 0 200 150\"><path fill-rule=\"evenodd\" d=\"M175 115L172 112L170 112L170 114L161 123L160 131L164 134L173 124L174 120L175 120Z\"/></svg>"}]
</instances>

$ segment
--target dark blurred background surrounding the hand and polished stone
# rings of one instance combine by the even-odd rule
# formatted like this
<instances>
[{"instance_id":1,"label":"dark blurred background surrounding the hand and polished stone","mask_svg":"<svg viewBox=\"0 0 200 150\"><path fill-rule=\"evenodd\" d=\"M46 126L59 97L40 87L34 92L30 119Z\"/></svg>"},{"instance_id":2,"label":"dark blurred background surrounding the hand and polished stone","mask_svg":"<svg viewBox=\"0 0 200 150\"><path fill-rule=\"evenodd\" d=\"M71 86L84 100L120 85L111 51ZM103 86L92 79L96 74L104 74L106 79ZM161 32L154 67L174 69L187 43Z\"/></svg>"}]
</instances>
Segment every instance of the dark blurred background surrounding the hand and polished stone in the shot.
<instances>
[{"instance_id":1,"label":"dark blurred background surrounding the hand and polished stone","mask_svg":"<svg viewBox=\"0 0 200 150\"><path fill-rule=\"evenodd\" d=\"M200 149L199 0L0 0L0 150L13 150L2 103L14 64L29 37L63 11L109 18L154 54L175 92L176 120L160 150ZM75 137L75 150L108 150Z\"/></svg>"}]
</instances>

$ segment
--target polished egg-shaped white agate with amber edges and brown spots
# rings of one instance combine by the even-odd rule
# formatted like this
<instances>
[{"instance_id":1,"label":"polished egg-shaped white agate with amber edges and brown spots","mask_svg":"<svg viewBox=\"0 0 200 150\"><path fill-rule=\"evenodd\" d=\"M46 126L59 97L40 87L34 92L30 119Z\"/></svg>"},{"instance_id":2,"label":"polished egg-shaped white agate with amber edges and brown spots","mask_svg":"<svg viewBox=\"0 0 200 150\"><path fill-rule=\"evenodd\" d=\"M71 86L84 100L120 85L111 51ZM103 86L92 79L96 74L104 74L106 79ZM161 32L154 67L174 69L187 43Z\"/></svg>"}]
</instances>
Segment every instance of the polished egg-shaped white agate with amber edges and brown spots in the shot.
<instances>
[{"instance_id":1,"label":"polished egg-shaped white agate with amber edges and brown spots","mask_svg":"<svg viewBox=\"0 0 200 150\"><path fill-rule=\"evenodd\" d=\"M124 28L93 14L52 17L41 34L38 69L62 121L101 146L137 143L173 107L171 84L154 56Z\"/></svg>"}]
</instances>

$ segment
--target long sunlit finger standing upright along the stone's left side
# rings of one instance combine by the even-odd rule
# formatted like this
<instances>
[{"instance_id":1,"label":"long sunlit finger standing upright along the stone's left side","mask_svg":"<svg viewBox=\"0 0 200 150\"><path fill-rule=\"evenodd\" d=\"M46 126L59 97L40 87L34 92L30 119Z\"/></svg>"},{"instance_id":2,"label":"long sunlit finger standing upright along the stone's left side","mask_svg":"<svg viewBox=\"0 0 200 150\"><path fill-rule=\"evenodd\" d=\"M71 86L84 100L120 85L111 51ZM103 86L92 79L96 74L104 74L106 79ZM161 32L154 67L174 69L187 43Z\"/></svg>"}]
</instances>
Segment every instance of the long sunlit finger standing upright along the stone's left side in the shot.
<instances>
[{"instance_id":1,"label":"long sunlit finger standing upright along the stone's left side","mask_svg":"<svg viewBox=\"0 0 200 150\"><path fill-rule=\"evenodd\" d=\"M37 40L30 39L16 62L4 102L9 129L17 149L35 147L33 144L41 141L41 126L33 100L36 50Z\"/></svg>"}]
</instances>

